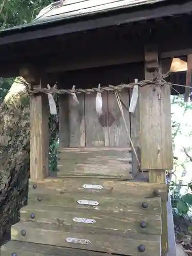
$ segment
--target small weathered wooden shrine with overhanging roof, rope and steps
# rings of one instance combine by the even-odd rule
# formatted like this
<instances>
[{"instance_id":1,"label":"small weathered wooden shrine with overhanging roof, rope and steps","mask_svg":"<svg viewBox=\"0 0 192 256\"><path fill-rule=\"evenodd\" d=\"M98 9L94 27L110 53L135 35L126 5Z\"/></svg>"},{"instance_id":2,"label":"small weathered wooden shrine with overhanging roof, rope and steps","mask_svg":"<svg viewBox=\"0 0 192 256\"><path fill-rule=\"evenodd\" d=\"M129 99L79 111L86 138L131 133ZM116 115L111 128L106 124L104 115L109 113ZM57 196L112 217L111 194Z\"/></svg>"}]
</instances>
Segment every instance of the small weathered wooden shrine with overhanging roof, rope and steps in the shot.
<instances>
[{"instance_id":1,"label":"small weathered wooden shrine with overhanging roof, rope and steps","mask_svg":"<svg viewBox=\"0 0 192 256\"><path fill-rule=\"evenodd\" d=\"M191 77L163 79L173 57L189 64L192 53L192 3L180 2L58 1L31 24L1 31L0 76L23 76L38 92L30 96L28 202L1 255L167 255L170 95L188 99L190 88L165 80L190 86ZM55 83L53 178L45 89Z\"/></svg>"}]
</instances>

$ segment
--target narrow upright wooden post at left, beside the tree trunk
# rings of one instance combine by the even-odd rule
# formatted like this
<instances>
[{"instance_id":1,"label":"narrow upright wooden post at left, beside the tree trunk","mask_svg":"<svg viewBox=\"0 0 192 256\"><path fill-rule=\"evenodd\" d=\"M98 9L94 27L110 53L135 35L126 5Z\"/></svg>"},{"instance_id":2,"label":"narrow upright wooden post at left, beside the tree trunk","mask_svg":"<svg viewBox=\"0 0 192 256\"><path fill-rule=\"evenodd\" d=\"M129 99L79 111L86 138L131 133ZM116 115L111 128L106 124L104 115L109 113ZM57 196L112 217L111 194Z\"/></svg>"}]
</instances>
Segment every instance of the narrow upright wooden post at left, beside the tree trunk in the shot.
<instances>
[{"instance_id":1,"label":"narrow upright wooden post at left, beside the tree trunk","mask_svg":"<svg viewBox=\"0 0 192 256\"><path fill-rule=\"evenodd\" d=\"M35 82L37 84L37 81ZM47 87L47 79L41 77L34 88ZM30 97L30 178L41 180L49 176L49 126L47 94Z\"/></svg>"}]
</instances>

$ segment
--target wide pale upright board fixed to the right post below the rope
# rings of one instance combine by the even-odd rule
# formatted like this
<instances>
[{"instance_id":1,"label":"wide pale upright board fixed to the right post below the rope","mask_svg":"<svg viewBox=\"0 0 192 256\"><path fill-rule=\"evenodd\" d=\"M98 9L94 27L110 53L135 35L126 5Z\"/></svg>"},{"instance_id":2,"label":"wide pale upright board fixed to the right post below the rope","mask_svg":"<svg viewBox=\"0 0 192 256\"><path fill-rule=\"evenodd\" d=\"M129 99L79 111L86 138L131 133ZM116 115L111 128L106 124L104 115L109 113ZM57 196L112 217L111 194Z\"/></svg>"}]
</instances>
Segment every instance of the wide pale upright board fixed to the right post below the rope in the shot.
<instances>
[{"instance_id":1,"label":"wide pale upright board fixed to the right post below the rope","mask_svg":"<svg viewBox=\"0 0 192 256\"><path fill-rule=\"evenodd\" d=\"M147 56L152 55L152 56ZM157 53L145 51L147 60L158 59ZM150 64L150 69L152 64ZM154 69L156 68L156 64ZM152 67L153 69L153 67ZM151 79L153 72L147 70L145 79ZM142 169L173 169L172 125L170 117L170 87L147 86L139 88L140 143Z\"/></svg>"}]
</instances>

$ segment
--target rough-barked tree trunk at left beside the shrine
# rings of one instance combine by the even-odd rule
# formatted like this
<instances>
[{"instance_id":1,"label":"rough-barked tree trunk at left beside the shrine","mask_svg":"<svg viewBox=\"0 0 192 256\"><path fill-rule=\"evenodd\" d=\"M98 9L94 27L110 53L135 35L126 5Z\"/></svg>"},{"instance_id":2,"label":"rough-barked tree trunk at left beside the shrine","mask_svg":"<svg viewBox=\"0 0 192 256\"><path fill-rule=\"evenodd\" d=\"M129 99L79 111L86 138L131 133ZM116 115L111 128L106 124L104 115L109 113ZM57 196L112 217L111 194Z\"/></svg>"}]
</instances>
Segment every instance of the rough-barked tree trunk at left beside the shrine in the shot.
<instances>
[{"instance_id":1,"label":"rough-barked tree trunk at left beside the shrine","mask_svg":"<svg viewBox=\"0 0 192 256\"><path fill-rule=\"evenodd\" d=\"M0 106L0 246L27 204L29 178L29 104L26 82L16 78Z\"/></svg>"}]
</instances>

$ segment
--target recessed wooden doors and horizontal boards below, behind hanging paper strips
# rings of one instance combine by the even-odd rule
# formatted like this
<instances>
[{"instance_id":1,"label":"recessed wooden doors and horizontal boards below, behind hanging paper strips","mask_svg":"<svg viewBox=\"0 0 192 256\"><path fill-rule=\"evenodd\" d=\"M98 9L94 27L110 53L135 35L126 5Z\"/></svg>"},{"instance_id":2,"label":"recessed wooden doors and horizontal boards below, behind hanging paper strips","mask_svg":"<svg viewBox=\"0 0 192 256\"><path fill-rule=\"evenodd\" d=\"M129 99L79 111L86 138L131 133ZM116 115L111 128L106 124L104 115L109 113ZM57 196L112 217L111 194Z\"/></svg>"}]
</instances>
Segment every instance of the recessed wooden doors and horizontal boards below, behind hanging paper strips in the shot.
<instances>
[{"instance_id":1,"label":"recessed wooden doors and horizontal boards below, behind hanging paper strips","mask_svg":"<svg viewBox=\"0 0 192 256\"><path fill-rule=\"evenodd\" d=\"M76 104L71 95L61 96L59 100L58 176L132 178L130 139L115 95L102 93L101 117L98 117L96 112L96 93L80 94L77 97L79 104ZM123 106L123 112L130 130L127 89L121 92L120 97L126 106Z\"/></svg>"}]
</instances>

